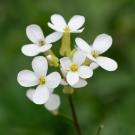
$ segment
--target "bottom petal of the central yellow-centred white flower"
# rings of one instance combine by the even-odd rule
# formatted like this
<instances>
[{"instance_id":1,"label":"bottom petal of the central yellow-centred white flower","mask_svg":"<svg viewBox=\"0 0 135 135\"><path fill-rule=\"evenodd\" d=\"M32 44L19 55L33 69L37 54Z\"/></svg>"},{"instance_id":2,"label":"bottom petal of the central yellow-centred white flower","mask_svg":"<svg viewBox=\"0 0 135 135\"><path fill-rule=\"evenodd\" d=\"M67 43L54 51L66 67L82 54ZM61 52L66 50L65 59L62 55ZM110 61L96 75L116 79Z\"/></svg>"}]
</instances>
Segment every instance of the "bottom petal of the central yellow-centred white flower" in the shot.
<instances>
[{"instance_id":1,"label":"bottom petal of the central yellow-centred white flower","mask_svg":"<svg viewBox=\"0 0 135 135\"><path fill-rule=\"evenodd\" d=\"M67 73L67 82L68 82L70 85L74 85L74 84L76 84L78 81L79 81L79 74L78 74L78 72L71 72L71 71L69 71L69 72Z\"/></svg>"}]
</instances>

